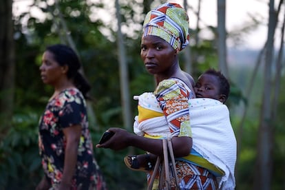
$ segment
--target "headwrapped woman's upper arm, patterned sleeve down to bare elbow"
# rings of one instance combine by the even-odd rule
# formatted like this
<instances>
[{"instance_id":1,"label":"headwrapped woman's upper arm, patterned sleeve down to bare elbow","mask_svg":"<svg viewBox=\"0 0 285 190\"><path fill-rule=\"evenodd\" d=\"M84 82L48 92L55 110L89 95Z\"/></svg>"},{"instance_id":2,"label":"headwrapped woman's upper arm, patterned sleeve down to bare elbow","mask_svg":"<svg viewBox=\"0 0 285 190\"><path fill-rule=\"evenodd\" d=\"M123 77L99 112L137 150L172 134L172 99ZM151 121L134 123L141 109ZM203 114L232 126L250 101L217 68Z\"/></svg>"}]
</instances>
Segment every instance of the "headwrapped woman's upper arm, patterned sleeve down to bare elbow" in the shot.
<instances>
[{"instance_id":1,"label":"headwrapped woman's upper arm, patterned sleeve down to bare elbow","mask_svg":"<svg viewBox=\"0 0 285 190\"><path fill-rule=\"evenodd\" d=\"M188 103L189 98L192 98L191 89L180 80L171 78L161 81L154 95L167 119L174 156L189 155L192 147Z\"/></svg>"}]
</instances>

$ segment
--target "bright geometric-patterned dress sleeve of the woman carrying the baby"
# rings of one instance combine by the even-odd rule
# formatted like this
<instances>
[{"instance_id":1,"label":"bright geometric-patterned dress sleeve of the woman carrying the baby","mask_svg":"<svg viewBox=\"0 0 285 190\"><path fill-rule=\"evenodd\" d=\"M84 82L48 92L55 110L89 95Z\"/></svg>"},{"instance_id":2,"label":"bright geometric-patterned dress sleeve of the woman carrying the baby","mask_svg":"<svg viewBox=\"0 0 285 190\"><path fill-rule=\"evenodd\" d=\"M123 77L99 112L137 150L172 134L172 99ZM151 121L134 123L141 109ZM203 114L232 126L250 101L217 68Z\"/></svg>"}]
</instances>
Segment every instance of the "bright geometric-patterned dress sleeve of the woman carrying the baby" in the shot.
<instances>
[{"instance_id":1,"label":"bright geometric-patterned dress sleeve of the woman carrying the baby","mask_svg":"<svg viewBox=\"0 0 285 190\"><path fill-rule=\"evenodd\" d=\"M189 104L191 92L183 83L174 79L161 81L154 92L164 112L171 136L192 137Z\"/></svg>"}]
</instances>

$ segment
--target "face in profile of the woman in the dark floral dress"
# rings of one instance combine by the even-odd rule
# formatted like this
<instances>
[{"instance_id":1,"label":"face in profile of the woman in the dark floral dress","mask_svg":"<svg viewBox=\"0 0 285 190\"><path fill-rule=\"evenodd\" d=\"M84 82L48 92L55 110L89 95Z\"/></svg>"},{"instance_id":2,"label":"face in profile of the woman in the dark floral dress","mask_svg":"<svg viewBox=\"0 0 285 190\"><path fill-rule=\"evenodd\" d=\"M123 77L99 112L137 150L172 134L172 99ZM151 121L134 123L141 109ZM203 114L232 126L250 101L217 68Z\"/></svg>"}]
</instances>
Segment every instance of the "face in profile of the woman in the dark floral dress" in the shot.
<instances>
[{"instance_id":1,"label":"face in profile of the woman in the dark floral dress","mask_svg":"<svg viewBox=\"0 0 285 190\"><path fill-rule=\"evenodd\" d=\"M60 83L66 74L65 67L59 65L54 60L54 54L49 51L43 53L39 70L41 71L41 80L43 83L53 86Z\"/></svg>"}]
</instances>

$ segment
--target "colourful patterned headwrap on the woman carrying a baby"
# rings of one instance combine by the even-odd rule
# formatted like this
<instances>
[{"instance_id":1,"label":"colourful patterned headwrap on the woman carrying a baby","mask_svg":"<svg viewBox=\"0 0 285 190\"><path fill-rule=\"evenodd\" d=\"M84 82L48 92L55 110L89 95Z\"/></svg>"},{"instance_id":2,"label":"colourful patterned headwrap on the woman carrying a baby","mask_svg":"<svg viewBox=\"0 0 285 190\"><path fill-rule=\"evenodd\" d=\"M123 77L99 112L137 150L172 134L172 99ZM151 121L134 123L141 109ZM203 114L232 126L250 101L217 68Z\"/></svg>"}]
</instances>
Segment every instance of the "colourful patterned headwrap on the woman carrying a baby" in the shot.
<instances>
[{"instance_id":1,"label":"colourful patterned headwrap on the woman carrying a baby","mask_svg":"<svg viewBox=\"0 0 285 190\"><path fill-rule=\"evenodd\" d=\"M181 51L189 43L187 12L177 3L164 3L145 16L142 37L158 36L174 50Z\"/></svg>"}]
</instances>

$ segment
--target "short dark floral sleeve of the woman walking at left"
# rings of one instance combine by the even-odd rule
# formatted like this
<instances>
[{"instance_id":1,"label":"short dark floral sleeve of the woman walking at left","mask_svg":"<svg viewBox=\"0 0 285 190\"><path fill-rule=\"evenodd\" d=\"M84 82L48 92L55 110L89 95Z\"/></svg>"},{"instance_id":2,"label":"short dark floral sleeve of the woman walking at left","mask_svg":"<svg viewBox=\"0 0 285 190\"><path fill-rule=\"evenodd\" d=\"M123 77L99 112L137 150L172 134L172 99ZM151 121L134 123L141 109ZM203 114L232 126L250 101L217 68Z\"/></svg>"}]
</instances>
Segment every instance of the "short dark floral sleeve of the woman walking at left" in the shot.
<instances>
[{"instance_id":1,"label":"short dark floral sleeve of the woman walking at left","mask_svg":"<svg viewBox=\"0 0 285 190\"><path fill-rule=\"evenodd\" d=\"M66 95L65 103L59 112L59 123L62 128L81 124L85 116L83 99L78 94Z\"/></svg>"}]
</instances>

